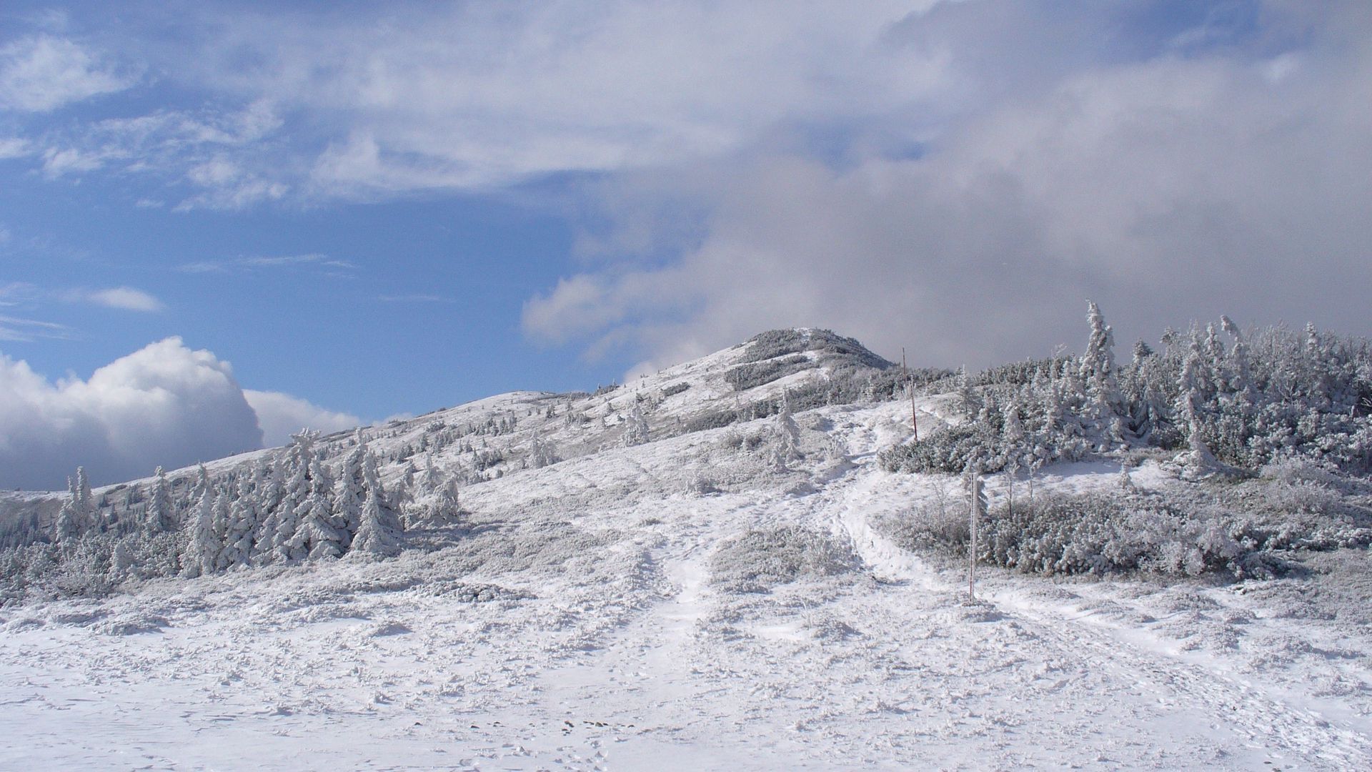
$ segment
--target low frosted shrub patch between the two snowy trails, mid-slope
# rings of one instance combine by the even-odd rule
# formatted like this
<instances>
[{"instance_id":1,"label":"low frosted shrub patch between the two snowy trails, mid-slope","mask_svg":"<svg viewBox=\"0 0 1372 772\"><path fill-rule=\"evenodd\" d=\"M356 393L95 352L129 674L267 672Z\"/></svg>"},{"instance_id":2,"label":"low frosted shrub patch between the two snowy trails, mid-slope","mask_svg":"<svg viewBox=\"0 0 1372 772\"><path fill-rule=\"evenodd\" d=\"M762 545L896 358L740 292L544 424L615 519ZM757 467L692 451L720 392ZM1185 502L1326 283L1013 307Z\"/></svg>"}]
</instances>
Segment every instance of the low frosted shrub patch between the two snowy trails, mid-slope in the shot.
<instances>
[{"instance_id":1,"label":"low frosted shrub patch between the two snowy trails, mid-slope","mask_svg":"<svg viewBox=\"0 0 1372 772\"><path fill-rule=\"evenodd\" d=\"M848 570L852 554L829 534L800 526L748 530L724 540L709 559L709 581L730 592L767 592L803 577Z\"/></svg>"}]
</instances>

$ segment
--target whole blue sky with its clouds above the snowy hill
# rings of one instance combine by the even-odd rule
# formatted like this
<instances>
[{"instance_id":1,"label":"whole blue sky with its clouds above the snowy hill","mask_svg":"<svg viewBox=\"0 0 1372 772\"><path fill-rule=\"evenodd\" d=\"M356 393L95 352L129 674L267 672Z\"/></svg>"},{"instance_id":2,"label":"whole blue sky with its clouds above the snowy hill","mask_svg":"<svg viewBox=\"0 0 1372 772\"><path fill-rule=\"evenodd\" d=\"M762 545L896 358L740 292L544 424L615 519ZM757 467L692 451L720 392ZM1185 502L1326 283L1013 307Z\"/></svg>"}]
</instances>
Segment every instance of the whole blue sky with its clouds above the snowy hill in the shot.
<instances>
[{"instance_id":1,"label":"whole blue sky with its clouds above the snowy hill","mask_svg":"<svg viewBox=\"0 0 1372 772\"><path fill-rule=\"evenodd\" d=\"M1372 332L1369 15L7 3L0 485L779 326L940 365L1078 348L1087 297L1124 341ZM207 409L222 442L173 437Z\"/></svg>"}]
</instances>

